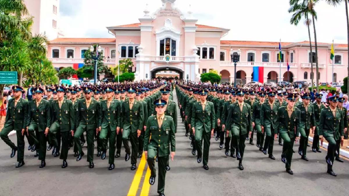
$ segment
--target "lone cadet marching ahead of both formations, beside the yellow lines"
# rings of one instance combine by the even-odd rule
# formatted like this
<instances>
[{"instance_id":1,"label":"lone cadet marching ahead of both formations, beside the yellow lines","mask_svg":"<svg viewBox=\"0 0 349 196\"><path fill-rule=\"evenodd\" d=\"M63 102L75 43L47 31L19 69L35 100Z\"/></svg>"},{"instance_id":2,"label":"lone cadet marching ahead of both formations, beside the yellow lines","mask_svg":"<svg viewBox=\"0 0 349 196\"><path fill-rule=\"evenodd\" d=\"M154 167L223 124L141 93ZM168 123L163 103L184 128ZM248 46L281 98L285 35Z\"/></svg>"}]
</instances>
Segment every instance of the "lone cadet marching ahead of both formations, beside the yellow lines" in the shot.
<instances>
[{"instance_id":1,"label":"lone cadet marching ahead of both formations, beside the yellow lines","mask_svg":"<svg viewBox=\"0 0 349 196\"><path fill-rule=\"evenodd\" d=\"M158 157L159 180L157 193L165 196L165 164L169 159L171 144L171 160L173 161L176 151L176 137L174 122L171 116L165 115L166 101L157 99L154 101L155 116L150 116L147 120L147 129L144 134L144 154L147 157L150 169L149 184L153 185L156 178L155 157Z\"/></svg>"}]
</instances>

